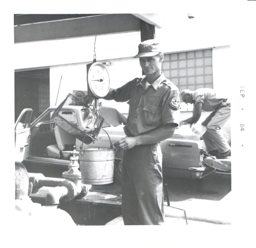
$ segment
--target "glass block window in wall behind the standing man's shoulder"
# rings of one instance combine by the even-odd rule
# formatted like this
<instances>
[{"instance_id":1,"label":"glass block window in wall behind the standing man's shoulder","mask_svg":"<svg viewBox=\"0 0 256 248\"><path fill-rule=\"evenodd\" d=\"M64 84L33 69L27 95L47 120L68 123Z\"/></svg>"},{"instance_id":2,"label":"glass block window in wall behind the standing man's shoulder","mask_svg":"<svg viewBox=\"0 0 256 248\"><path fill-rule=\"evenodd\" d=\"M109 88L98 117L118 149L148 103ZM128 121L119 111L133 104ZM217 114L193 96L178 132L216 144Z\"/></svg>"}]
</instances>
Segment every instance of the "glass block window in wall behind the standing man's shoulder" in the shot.
<instances>
[{"instance_id":1,"label":"glass block window in wall behind the standing man's shoulder","mask_svg":"<svg viewBox=\"0 0 256 248\"><path fill-rule=\"evenodd\" d=\"M162 71L180 91L213 88L212 49L164 54Z\"/></svg>"}]
</instances>

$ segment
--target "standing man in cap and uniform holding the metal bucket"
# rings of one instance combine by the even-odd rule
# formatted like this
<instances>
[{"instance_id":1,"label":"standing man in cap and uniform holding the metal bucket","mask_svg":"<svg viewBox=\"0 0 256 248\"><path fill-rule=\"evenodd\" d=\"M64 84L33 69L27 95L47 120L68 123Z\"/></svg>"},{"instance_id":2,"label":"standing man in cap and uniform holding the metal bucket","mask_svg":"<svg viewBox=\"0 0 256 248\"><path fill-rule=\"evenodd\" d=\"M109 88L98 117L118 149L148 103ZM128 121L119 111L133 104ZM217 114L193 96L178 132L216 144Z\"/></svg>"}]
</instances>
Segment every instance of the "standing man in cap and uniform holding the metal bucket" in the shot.
<instances>
[{"instance_id":1,"label":"standing man in cap and uniform holding the metal bucket","mask_svg":"<svg viewBox=\"0 0 256 248\"><path fill-rule=\"evenodd\" d=\"M106 100L129 101L125 138L116 142L124 150L122 213L125 225L163 225L162 152L159 143L173 136L179 125L180 93L161 71L163 53L154 40L139 45L145 73L118 89Z\"/></svg>"}]
</instances>

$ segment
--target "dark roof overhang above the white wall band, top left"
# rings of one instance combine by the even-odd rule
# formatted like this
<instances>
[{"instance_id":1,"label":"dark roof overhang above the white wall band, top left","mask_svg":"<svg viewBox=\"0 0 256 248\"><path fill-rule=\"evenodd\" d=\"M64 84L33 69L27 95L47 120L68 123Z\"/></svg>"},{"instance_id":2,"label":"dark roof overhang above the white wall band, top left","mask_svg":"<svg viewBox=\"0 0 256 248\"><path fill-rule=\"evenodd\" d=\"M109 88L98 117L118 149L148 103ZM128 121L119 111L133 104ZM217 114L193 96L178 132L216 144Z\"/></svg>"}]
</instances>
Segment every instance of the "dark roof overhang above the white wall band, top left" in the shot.
<instances>
[{"instance_id":1,"label":"dark roof overhang above the white wall band, top left","mask_svg":"<svg viewBox=\"0 0 256 248\"><path fill-rule=\"evenodd\" d=\"M15 14L14 43L140 31L143 20L160 28L157 14Z\"/></svg>"}]
</instances>

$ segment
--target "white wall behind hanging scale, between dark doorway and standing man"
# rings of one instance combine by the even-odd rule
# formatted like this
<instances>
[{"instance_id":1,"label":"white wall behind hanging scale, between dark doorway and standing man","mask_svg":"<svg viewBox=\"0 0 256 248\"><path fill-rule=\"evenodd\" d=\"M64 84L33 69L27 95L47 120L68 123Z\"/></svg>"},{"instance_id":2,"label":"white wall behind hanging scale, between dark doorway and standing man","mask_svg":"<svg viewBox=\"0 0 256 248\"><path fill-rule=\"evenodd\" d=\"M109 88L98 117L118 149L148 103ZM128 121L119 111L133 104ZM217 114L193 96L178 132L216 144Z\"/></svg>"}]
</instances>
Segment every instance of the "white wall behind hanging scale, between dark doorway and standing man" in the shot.
<instances>
[{"instance_id":1,"label":"white wall behind hanging scale, between dark doorway and standing man","mask_svg":"<svg viewBox=\"0 0 256 248\"><path fill-rule=\"evenodd\" d=\"M111 88L118 88L133 78L141 77L142 75L139 59L130 57L108 61L111 62L109 67L106 66L110 77ZM73 90L87 90L86 64L87 63L77 63L50 67L51 106L55 105L58 90L59 95L57 105L63 101L68 93L72 94ZM129 105L126 103L116 103L115 101L106 101L103 99L100 99L99 102L102 102L104 106L114 107L121 113L128 113L129 110Z\"/></svg>"}]
</instances>

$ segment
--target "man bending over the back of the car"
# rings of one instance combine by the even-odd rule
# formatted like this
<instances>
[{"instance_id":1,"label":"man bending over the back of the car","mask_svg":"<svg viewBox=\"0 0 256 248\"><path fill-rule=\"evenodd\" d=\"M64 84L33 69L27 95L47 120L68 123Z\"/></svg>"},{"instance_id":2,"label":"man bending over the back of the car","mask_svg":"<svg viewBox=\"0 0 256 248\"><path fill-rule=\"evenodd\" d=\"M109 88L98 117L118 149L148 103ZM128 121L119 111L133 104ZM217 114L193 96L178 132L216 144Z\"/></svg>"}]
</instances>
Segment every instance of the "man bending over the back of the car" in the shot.
<instances>
[{"instance_id":1,"label":"man bending over the back of the car","mask_svg":"<svg viewBox=\"0 0 256 248\"><path fill-rule=\"evenodd\" d=\"M217 159L226 159L231 155L229 144L223 137L221 127L230 119L230 102L227 98L219 97L213 89L201 88L195 91L182 90L181 100L194 104L193 116L184 120L187 123L196 123L201 117L201 111L213 111L202 125L206 127L203 135L207 152Z\"/></svg>"}]
</instances>

